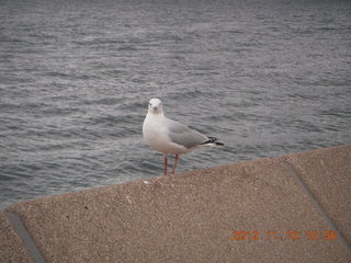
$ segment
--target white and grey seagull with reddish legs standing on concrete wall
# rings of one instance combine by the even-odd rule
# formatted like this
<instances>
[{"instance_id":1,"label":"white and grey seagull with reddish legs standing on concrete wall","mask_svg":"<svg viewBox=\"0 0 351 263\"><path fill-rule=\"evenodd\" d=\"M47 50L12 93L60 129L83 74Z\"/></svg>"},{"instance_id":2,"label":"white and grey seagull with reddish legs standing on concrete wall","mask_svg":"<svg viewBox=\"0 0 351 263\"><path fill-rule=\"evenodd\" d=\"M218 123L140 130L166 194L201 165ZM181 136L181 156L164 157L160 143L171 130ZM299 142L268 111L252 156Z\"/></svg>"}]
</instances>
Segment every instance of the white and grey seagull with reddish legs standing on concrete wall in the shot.
<instances>
[{"instance_id":1,"label":"white and grey seagull with reddish legs standing on concrete wall","mask_svg":"<svg viewBox=\"0 0 351 263\"><path fill-rule=\"evenodd\" d=\"M180 155L189 153L202 146L223 145L215 137L207 137L184 124L167 118L159 99L149 101L148 112L143 124L143 136L148 146L163 153L165 175L167 175L168 155L176 156L172 169L172 173L176 173Z\"/></svg>"}]
</instances>

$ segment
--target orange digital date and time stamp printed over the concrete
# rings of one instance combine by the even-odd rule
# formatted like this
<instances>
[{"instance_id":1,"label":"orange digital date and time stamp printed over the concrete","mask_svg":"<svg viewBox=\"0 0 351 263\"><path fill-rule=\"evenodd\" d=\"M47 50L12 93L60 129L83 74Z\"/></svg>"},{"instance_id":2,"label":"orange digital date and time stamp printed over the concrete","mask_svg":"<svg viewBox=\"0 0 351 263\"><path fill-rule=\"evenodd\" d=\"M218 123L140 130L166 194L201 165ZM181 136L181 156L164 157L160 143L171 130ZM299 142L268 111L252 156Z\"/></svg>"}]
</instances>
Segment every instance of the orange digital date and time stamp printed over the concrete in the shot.
<instances>
[{"instance_id":1,"label":"orange digital date and time stamp printed over the concrete","mask_svg":"<svg viewBox=\"0 0 351 263\"><path fill-rule=\"evenodd\" d=\"M230 235L230 240L234 241L259 241L259 240L268 240L268 241L297 241L301 239L306 239L310 241L317 240L337 240L338 232L337 230L234 230Z\"/></svg>"}]
</instances>

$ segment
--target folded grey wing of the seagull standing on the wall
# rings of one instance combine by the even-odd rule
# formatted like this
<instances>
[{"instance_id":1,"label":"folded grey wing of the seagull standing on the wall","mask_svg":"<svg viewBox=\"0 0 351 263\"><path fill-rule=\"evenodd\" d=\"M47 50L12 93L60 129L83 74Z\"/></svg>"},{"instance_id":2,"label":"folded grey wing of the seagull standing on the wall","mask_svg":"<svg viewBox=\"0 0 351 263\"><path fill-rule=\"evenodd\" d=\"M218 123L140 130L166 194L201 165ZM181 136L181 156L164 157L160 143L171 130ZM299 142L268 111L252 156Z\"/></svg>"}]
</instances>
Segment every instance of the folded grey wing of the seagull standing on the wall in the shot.
<instances>
[{"instance_id":1,"label":"folded grey wing of the seagull standing on the wall","mask_svg":"<svg viewBox=\"0 0 351 263\"><path fill-rule=\"evenodd\" d=\"M167 119L167 128L169 138L185 148L193 148L208 140L203 134L169 118Z\"/></svg>"}]
</instances>

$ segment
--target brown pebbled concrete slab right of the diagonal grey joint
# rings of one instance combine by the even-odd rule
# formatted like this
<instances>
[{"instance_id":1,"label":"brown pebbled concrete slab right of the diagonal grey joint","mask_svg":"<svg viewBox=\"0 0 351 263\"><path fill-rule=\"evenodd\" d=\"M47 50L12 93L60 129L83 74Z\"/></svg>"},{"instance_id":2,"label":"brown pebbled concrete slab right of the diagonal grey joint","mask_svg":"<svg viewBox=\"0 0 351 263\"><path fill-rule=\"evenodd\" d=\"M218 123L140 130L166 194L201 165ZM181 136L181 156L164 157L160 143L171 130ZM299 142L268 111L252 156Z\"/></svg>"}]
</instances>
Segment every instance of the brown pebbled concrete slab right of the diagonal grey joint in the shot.
<instances>
[{"instance_id":1,"label":"brown pebbled concrete slab right of the diagonal grey joint","mask_svg":"<svg viewBox=\"0 0 351 263\"><path fill-rule=\"evenodd\" d=\"M351 149L336 147L287 157L321 207L351 243Z\"/></svg>"}]
</instances>

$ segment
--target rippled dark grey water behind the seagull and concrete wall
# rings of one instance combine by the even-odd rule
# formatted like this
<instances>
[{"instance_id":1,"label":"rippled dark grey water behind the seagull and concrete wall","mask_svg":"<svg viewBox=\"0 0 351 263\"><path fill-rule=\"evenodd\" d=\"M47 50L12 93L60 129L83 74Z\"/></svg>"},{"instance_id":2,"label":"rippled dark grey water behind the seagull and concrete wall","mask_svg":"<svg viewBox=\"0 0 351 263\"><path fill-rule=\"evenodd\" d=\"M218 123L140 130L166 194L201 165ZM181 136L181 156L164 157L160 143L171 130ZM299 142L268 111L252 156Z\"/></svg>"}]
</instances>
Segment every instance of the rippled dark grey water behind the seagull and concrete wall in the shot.
<instances>
[{"instance_id":1,"label":"rippled dark grey water behind the seagull and concrete wall","mask_svg":"<svg viewBox=\"0 0 351 263\"><path fill-rule=\"evenodd\" d=\"M154 96L226 144L179 171L351 142L350 1L0 5L0 207L161 174Z\"/></svg>"}]
</instances>

